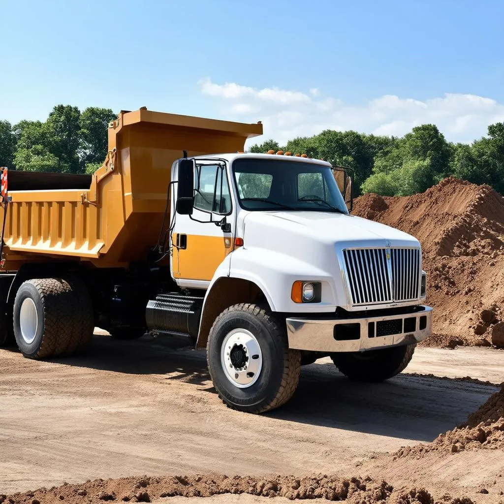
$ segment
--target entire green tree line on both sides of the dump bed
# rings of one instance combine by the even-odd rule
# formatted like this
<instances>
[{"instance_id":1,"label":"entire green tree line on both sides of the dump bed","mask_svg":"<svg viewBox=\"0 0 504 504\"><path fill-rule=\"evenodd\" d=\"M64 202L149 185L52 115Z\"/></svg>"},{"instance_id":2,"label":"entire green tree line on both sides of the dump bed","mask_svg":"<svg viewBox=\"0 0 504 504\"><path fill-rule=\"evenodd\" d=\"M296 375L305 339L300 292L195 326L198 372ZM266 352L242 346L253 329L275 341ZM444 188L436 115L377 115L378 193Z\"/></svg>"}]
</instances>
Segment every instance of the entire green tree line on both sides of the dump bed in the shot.
<instances>
[{"instance_id":1,"label":"entire green tree line on both sides of the dump bed","mask_svg":"<svg viewBox=\"0 0 504 504\"><path fill-rule=\"evenodd\" d=\"M90 173L107 153L109 108L56 105L45 121L0 120L0 166L26 171ZM281 146L275 140L249 152L305 153L355 174L355 195L407 196L455 175L487 183L504 195L504 122L491 124L486 137L471 144L448 142L434 124L422 124L403 137L325 130Z\"/></svg>"}]
</instances>

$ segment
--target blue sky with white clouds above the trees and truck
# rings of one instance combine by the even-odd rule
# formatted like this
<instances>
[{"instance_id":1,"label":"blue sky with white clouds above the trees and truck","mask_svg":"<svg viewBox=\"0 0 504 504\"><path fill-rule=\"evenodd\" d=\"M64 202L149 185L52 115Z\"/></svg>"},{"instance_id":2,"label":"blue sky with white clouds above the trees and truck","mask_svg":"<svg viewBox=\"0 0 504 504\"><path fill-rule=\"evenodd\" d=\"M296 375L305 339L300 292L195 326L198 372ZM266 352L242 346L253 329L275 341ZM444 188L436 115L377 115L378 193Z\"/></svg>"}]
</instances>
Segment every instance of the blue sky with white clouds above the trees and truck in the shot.
<instances>
[{"instance_id":1,"label":"blue sky with white clouds above the trees and truck","mask_svg":"<svg viewBox=\"0 0 504 504\"><path fill-rule=\"evenodd\" d=\"M469 141L504 120L504 2L0 0L0 118L53 105Z\"/></svg>"}]
</instances>

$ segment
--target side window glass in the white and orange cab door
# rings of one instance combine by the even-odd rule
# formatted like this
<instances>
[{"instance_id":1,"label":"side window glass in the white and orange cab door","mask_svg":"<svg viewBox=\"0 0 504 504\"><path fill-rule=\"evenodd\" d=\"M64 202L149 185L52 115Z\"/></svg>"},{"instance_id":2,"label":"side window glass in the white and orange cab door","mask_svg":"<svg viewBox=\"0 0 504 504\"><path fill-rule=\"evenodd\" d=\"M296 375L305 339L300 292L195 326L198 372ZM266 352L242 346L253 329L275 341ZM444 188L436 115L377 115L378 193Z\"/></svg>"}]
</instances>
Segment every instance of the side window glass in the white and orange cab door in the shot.
<instances>
[{"instance_id":1,"label":"side window glass in the white and orange cab door","mask_svg":"<svg viewBox=\"0 0 504 504\"><path fill-rule=\"evenodd\" d=\"M194 206L204 212L224 215L231 211L231 195L226 171L222 166L199 165L194 177Z\"/></svg>"}]
</instances>

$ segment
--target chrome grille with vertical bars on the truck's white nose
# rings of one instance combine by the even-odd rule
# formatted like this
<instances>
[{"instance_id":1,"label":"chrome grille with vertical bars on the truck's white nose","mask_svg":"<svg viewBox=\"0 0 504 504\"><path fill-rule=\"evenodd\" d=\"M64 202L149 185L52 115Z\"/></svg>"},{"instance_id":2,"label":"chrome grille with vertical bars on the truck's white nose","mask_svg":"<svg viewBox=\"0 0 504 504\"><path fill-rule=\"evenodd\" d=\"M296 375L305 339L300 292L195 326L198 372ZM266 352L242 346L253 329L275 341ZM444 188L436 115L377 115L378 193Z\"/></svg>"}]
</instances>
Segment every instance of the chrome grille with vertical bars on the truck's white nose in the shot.
<instances>
[{"instance_id":1,"label":"chrome grille with vertical bars on the truck's white nose","mask_svg":"<svg viewBox=\"0 0 504 504\"><path fill-rule=\"evenodd\" d=\"M352 304L373 304L417 299L420 249L386 248L343 250Z\"/></svg>"}]
</instances>

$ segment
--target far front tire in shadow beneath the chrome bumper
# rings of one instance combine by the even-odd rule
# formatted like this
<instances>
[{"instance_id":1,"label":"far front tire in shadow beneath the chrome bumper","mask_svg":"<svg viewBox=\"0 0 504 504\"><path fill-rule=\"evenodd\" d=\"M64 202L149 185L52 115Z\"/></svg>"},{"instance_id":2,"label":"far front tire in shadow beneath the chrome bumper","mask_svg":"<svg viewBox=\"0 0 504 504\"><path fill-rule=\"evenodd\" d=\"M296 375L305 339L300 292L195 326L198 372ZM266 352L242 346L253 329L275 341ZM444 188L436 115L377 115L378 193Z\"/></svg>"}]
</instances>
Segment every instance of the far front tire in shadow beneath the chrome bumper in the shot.
<instances>
[{"instance_id":1,"label":"far front tire in shadow beneath the chrome bumper","mask_svg":"<svg viewBox=\"0 0 504 504\"><path fill-rule=\"evenodd\" d=\"M350 380L383 382L406 369L416 344L402 345L367 352L331 354L336 367Z\"/></svg>"}]
</instances>

